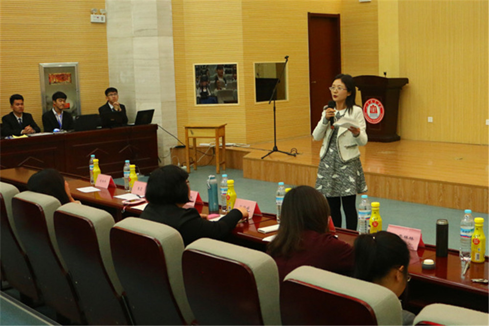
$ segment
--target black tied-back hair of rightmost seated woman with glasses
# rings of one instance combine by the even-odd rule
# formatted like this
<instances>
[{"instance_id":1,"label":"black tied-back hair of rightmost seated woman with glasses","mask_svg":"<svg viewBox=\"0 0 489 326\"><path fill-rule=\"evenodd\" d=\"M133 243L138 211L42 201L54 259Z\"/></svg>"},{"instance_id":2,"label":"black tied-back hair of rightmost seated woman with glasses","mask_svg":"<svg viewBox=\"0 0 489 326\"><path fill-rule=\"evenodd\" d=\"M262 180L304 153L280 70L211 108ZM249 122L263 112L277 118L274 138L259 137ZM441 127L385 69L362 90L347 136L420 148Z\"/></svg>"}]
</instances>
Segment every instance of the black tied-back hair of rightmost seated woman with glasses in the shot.
<instances>
[{"instance_id":1,"label":"black tied-back hair of rightmost seated woman with glasses","mask_svg":"<svg viewBox=\"0 0 489 326\"><path fill-rule=\"evenodd\" d=\"M392 268L404 266L407 275L409 249L398 235L387 231L363 234L355 239L355 267L353 276L374 282L386 276Z\"/></svg>"}]
</instances>

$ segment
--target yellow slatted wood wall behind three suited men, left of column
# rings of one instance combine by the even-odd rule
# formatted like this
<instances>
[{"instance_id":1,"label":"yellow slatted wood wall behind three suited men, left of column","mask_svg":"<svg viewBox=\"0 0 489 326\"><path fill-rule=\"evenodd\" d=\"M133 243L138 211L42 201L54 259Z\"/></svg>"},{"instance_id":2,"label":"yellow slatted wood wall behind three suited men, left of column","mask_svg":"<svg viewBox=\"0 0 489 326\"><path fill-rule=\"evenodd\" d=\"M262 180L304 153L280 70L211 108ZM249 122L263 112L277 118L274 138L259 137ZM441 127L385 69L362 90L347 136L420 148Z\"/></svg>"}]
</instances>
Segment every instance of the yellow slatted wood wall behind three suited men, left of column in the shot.
<instances>
[{"instance_id":1,"label":"yellow slatted wood wall behind three suited men, left of column","mask_svg":"<svg viewBox=\"0 0 489 326\"><path fill-rule=\"evenodd\" d=\"M90 9L104 0L2 0L0 2L0 114L20 93L25 110L42 126L39 64L78 62L83 114L104 104L109 84L105 24L90 23ZM109 18L110 19L110 18Z\"/></svg>"}]
</instances>

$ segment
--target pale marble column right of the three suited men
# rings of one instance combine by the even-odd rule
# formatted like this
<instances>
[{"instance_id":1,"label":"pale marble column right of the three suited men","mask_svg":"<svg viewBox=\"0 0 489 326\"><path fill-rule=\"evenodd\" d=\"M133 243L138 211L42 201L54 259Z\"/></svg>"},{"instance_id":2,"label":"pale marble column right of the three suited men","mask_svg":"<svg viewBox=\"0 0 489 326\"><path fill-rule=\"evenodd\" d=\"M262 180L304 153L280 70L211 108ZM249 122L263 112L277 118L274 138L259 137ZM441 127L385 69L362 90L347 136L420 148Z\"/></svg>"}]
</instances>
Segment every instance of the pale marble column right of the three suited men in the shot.
<instances>
[{"instance_id":1,"label":"pale marble column right of the three suited men","mask_svg":"<svg viewBox=\"0 0 489 326\"><path fill-rule=\"evenodd\" d=\"M106 0L109 80L129 122L155 109L153 123L177 135L171 0ZM158 128L161 165L177 140Z\"/></svg>"}]
</instances>

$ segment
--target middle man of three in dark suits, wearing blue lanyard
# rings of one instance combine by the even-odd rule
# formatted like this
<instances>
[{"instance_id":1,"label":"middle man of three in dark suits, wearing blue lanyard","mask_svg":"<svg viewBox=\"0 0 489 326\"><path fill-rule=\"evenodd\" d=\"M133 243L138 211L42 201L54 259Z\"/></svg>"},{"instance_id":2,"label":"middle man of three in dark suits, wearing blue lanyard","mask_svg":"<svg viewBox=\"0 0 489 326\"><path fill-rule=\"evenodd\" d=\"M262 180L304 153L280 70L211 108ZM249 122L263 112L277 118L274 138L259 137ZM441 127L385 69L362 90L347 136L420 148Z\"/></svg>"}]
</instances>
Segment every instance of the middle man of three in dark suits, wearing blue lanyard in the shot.
<instances>
[{"instance_id":1,"label":"middle man of three in dark suits, wearing blue lanyard","mask_svg":"<svg viewBox=\"0 0 489 326\"><path fill-rule=\"evenodd\" d=\"M43 114L44 132L71 130L74 128L71 114L65 110L67 96L63 92L56 92L52 96L53 108Z\"/></svg>"}]
</instances>

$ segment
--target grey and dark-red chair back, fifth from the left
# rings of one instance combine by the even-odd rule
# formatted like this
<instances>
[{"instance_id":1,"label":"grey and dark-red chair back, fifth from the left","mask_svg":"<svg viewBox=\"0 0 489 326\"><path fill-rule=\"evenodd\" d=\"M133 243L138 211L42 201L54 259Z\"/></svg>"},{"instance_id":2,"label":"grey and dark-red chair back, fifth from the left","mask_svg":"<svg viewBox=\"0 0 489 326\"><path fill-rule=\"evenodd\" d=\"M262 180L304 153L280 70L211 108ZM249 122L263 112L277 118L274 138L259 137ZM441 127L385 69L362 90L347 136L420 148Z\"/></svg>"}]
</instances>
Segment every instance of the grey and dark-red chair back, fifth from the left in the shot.
<instances>
[{"instance_id":1,"label":"grey and dark-red chair back, fifth from the left","mask_svg":"<svg viewBox=\"0 0 489 326\"><path fill-rule=\"evenodd\" d=\"M182 268L200 325L281 325L278 269L267 254L202 238L185 248Z\"/></svg>"}]
</instances>

